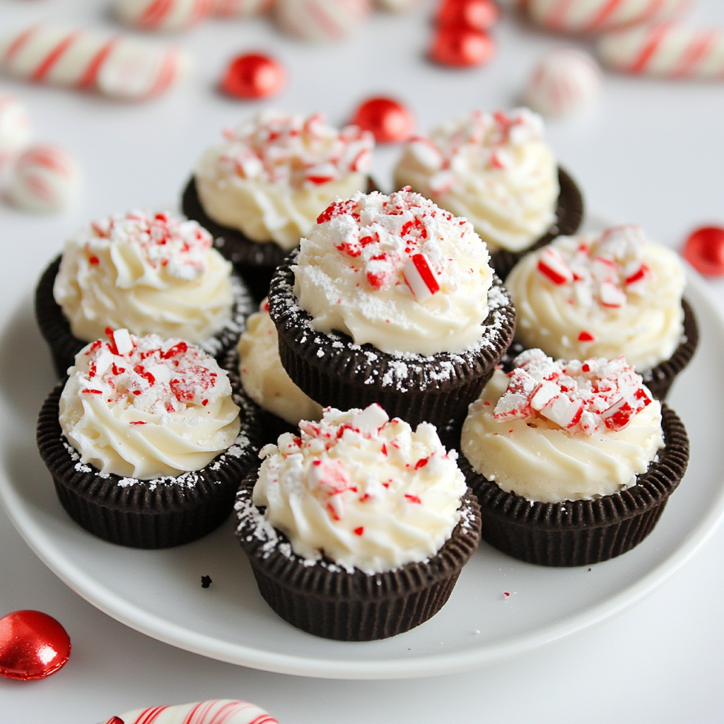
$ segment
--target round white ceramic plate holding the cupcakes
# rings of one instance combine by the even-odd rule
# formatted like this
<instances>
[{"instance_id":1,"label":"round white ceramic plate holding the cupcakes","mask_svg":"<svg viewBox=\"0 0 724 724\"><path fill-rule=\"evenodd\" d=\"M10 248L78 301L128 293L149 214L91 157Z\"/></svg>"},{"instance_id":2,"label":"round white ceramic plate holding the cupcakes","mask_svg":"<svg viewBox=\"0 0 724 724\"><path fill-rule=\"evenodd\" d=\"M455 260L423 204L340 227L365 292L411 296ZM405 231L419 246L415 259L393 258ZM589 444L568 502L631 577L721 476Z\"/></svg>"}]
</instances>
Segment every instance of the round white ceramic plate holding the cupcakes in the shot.
<instances>
[{"instance_id":1,"label":"round white ceramic plate holding the cupcakes","mask_svg":"<svg viewBox=\"0 0 724 724\"><path fill-rule=\"evenodd\" d=\"M589 568L550 569L481 544L450 601L432 620L385 641L341 643L310 636L271 612L227 522L172 550L132 550L91 536L64 513L51 479L13 416L51 386L29 304L2 337L0 365L22 359L16 410L0 418L0 494L17 529L57 576L90 603L161 641L235 664L327 678L402 678L452 673L525 652L591 626L640 601L704 543L724 510L717 446L724 439L724 326L704 282L687 296L702 330L699 351L675 383L670 404L691 437L691 463L653 533L626 555ZM5 366L4 387L12 386ZM24 387L24 389L22 389ZM201 576L213 584L201 588ZM509 597L503 594L509 593Z\"/></svg>"}]
</instances>

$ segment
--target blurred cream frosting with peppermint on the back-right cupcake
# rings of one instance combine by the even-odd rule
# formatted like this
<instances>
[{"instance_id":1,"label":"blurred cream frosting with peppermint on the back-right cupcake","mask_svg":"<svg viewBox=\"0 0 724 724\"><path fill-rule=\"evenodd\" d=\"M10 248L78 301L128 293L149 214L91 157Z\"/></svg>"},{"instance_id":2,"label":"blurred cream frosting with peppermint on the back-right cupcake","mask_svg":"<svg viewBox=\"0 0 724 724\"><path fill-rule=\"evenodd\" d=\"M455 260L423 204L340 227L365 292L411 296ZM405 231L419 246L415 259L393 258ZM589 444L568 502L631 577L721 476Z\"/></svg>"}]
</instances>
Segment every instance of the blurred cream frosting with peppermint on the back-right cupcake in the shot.
<instances>
[{"instance_id":1,"label":"blurred cream frosting with peppermint on the back-right cupcake","mask_svg":"<svg viewBox=\"0 0 724 724\"><path fill-rule=\"evenodd\" d=\"M413 138L395 184L464 216L491 251L521 251L555 221L557 164L543 135L529 109L473 111Z\"/></svg>"}]
</instances>

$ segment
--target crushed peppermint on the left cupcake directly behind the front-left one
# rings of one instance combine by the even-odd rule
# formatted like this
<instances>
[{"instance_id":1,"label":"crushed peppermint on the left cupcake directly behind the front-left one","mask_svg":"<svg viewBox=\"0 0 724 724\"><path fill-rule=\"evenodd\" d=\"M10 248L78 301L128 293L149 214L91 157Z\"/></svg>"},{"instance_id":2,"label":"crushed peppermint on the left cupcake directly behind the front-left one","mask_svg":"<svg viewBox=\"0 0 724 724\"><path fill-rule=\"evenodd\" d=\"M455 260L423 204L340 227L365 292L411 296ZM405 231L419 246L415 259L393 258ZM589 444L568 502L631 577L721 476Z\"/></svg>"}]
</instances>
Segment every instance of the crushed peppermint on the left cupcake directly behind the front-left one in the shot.
<instances>
[{"instance_id":1,"label":"crushed peppermint on the left cupcake directly behind the front-left one","mask_svg":"<svg viewBox=\"0 0 724 724\"><path fill-rule=\"evenodd\" d=\"M81 239L91 267L104 263L105 251L129 245L152 269L165 269L172 277L187 280L203 274L213 241L197 222L144 210L91 222Z\"/></svg>"}]
</instances>

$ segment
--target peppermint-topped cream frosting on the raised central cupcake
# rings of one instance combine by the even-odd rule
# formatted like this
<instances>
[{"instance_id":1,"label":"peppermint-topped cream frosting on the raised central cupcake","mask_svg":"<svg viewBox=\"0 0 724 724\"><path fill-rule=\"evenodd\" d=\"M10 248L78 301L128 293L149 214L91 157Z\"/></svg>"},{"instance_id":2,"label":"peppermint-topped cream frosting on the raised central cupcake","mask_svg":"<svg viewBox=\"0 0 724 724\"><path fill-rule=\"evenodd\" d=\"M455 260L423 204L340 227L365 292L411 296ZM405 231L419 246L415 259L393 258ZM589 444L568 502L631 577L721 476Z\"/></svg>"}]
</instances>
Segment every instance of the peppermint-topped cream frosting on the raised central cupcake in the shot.
<instances>
[{"instance_id":1,"label":"peppermint-topped cream frosting on the raised central cupcake","mask_svg":"<svg viewBox=\"0 0 724 724\"><path fill-rule=\"evenodd\" d=\"M313 327L386 353L459 352L484 331L492 270L471 224L409 188L337 199L300 240Z\"/></svg>"}]
</instances>

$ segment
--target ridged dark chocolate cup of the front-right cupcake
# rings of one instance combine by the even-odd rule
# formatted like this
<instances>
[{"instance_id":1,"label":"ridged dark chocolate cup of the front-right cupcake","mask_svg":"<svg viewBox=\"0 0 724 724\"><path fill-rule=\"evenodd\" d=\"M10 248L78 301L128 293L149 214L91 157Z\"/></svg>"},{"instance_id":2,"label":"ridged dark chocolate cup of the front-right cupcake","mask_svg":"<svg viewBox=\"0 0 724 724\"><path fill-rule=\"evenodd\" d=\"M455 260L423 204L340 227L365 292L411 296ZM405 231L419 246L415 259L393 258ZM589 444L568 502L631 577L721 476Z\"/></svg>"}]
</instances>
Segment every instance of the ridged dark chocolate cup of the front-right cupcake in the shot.
<instances>
[{"instance_id":1,"label":"ridged dark chocolate cup of the front-right cupcake","mask_svg":"<svg viewBox=\"0 0 724 724\"><path fill-rule=\"evenodd\" d=\"M460 470L480 503L481 535L527 563L600 563L636 547L653 529L689 463L689 438L676 413L662 405L665 447L627 490L597 500L531 502L505 492L460 455Z\"/></svg>"}]
</instances>

